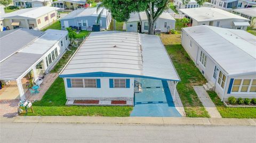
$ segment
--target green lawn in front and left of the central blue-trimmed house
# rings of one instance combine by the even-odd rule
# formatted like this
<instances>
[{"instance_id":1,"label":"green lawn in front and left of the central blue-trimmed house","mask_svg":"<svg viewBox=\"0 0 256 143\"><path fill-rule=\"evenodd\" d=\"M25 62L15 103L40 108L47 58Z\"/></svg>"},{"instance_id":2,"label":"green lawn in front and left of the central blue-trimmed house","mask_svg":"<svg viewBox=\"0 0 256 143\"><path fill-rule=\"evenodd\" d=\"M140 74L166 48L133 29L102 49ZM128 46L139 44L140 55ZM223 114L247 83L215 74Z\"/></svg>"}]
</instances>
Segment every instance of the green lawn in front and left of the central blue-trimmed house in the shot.
<instances>
[{"instance_id":1,"label":"green lawn in front and left of the central blue-trimmed house","mask_svg":"<svg viewBox=\"0 0 256 143\"><path fill-rule=\"evenodd\" d=\"M33 103L34 113L28 116L130 116L129 106L66 106L66 93L62 78L57 78L40 101Z\"/></svg>"}]
</instances>

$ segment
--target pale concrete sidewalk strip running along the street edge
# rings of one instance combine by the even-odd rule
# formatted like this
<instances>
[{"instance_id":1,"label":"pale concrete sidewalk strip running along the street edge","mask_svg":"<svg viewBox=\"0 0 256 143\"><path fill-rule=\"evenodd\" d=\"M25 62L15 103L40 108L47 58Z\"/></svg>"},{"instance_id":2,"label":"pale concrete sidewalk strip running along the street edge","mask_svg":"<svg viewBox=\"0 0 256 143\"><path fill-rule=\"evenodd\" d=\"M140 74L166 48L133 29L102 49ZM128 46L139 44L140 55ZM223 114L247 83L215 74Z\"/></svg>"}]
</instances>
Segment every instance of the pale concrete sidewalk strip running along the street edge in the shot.
<instances>
[{"instance_id":1,"label":"pale concrete sidewalk strip running along the street edge","mask_svg":"<svg viewBox=\"0 0 256 143\"><path fill-rule=\"evenodd\" d=\"M181 125L254 125L256 119L190 117L102 117L102 116L17 116L0 121L11 123L107 123L107 124L181 124Z\"/></svg>"}]
</instances>

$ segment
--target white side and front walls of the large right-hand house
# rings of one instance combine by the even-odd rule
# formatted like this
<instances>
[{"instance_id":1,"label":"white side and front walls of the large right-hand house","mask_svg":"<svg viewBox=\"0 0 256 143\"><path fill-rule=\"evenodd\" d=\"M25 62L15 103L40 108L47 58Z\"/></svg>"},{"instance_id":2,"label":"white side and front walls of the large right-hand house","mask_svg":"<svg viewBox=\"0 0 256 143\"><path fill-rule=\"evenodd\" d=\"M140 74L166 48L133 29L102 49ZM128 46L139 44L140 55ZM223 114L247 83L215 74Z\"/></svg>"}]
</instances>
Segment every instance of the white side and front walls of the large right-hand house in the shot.
<instances>
[{"instance_id":1,"label":"white side and front walls of the large right-hand house","mask_svg":"<svg viewBox=\"0 0 256 143\"><path fill-rule=\"evenodd\" d=\"M189 41L192 40L192 46L190 47L189 45ZM242 98L256 98L256 93L252 93L252 92L235 92L235 93L230 93L228 94L228 88L229 88L229 82L231 78L234 79L256 79L256 74L250 74L250 75L238 75L238 76L233 76L233 77L228 77L227 73L221 69L221 67L215 63L209 55L207 55L207 53L205 53L202 48L199 47L199 45L197 43L195 43L195 41L193 39L191 39L187 33L185 31L182 31L182 37L181 37L181 45L183 46L183 48L185 49L185 51L188 53L188 55L190 56L191 60L193 60L193 62L196 64L197 68L199 69L199 71L202 73L202 71L204 71L204 73L202 73L205 77L205 79L207 81L210 81L212 83L214 83L215 85L215 92L218 94L218 96L220 97L220 99L227 100L228 97L230 96L234 96L236 98L242 97ZM206 60L206 65L204 67L204 65L200 62L200 54L201 51L204 52L204 54L207 57ZM219 71L221 71L222 73L224 73L226 75L226 81L225 81L225 86L224 88L222 88L219 83L218 83L218 75L219 75L219 71L217 72L217 78L214 79L213 78L213 73L214 73L214 69L215 66L217 66L217 68L219 69Z\"/></svg>"}]
</instances>

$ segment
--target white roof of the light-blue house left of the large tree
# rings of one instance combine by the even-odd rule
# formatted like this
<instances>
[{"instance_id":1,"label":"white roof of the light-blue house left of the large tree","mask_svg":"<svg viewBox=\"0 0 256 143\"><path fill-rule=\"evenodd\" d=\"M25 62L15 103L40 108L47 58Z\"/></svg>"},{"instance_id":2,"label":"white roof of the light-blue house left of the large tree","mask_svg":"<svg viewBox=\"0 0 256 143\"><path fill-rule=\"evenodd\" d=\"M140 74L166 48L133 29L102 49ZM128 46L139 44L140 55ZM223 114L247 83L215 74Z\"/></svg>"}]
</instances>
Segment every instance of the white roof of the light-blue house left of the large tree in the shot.
<instances>
[{"instance_id":1,"label":"white roof of the light-blue house left of the large tree","mask_svg":"<svg viewBox=\"0 0 256 143\"><path fill-rule=\"evenodd\" d=\"M83 16L98 16L101 10L103 10L101 17L106 17L107 16L106 9L100 8L99 11L97 12L97 7L92 7L89 9L78 9L78 10L72 11L68 15L61 18L61 20L74 19L74 18L83 17Z\"/></svg>"}]
</instances>

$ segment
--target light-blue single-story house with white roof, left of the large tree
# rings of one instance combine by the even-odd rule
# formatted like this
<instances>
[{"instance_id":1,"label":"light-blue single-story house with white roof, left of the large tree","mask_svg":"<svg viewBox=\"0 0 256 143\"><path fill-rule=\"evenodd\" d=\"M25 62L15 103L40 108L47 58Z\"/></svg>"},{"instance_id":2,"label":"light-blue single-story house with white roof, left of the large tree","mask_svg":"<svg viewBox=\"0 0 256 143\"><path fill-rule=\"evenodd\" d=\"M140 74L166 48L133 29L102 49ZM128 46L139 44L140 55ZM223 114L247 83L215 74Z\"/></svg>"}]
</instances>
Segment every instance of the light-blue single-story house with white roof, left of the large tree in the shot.
<instances>
[{"instance_id":1,"label":"light-blue single-story house with white roof, left of the large tree","mask_svg":"<svg viewBox=\"0 0 256 143\"><path fill-rule=\"evenodd\" d=\"M111 22L111 13L106 9L100 8L97 12L97 7L88 9L78 9L70 12L68 15L60 19L61 29L65 30L67 27L77 27L81 30L86 30L97 23L98 15L103 10L99 24L101 29L108 29Z\"/></svg>"}]
</instances>

